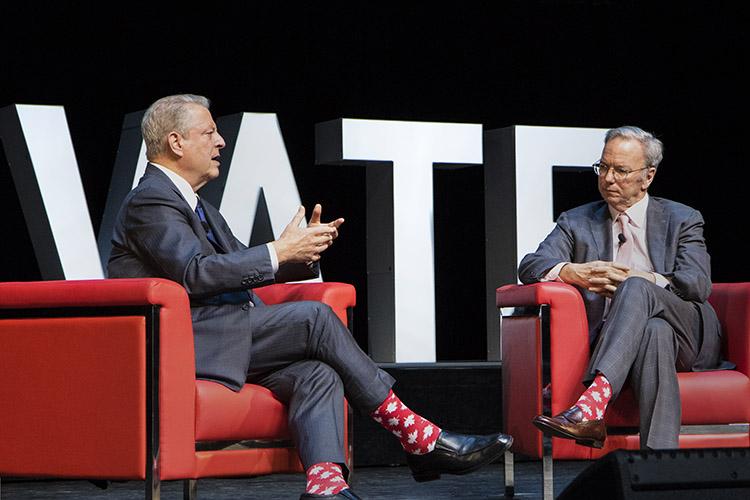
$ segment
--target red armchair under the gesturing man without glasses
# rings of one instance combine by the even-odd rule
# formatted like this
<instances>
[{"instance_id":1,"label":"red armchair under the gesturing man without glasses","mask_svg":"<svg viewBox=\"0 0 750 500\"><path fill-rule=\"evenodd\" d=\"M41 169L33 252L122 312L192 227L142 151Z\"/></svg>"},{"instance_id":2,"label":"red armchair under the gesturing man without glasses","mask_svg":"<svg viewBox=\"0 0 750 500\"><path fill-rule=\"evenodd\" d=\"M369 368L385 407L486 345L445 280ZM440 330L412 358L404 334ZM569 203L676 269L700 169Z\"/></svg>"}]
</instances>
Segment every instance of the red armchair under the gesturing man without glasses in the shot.
<instances>
[{"instance_id":1,"label":"red armchair under the gesturing man without glasses","mask_svg":"<svg viewBox=\"0 0 750 500\"><path fill-rule=\"evenodd\" d=\"M343 283L256 292L345 324L355 304ZM268 389L195 379L188 297L168 280L0 283L0 407L0 477L140 479L158 498L162 480L192 497L203 477L302 471Z\"/></svg>"}]
</instances>

